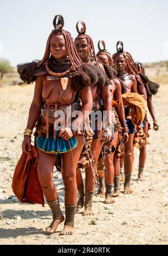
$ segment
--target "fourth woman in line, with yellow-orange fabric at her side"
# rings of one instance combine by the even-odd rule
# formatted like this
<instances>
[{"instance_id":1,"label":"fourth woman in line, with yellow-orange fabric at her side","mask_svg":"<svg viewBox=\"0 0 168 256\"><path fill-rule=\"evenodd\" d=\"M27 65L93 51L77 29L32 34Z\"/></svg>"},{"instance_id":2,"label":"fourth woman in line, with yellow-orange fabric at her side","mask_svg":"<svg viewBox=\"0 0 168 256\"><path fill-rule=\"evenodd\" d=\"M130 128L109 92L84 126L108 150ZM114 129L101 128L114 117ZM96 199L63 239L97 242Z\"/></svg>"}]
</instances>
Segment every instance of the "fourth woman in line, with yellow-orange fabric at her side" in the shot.
<instances>
[{"instance_id":1,"label":"fourth woman in line, with yellow-orange fabric at her side","mask_svg":"<svg viewBox=\"0 0 168 256\"><path fill-rule=\"evenodd\" d=\"M114 61L114 68L117 71L116 77L118 77L121 85L122 85L122 94L128 94L130 99L133 97L137 98L137 94L130 94L130 93L137 93L137 80L136 77L133 75L134 72L132 71L131 61L129 54L127 52L123 52L123 43L117 43L117 52L113 54L113 61ZM142 97L141 97L142 98ZM142 98L143 99L143 98ZM138 97L139 100L139 97ZM140 99L141 101L141 99ZM143 104L143 100L142 100ZM124 181L124 194L132 193L130 189L130 177L133 171L133 140L134 134L136 132L136 127L133 125L131 120L131 107L125 105L125 118L126 124L128 125L128 134L129 139L128 142L124 145L124 173L125 173L125 181ZM116 166L118 166L119 170L119 159L115 158ZM117 170L117 167L115 168Z\"/></svg>"}]
</instances>

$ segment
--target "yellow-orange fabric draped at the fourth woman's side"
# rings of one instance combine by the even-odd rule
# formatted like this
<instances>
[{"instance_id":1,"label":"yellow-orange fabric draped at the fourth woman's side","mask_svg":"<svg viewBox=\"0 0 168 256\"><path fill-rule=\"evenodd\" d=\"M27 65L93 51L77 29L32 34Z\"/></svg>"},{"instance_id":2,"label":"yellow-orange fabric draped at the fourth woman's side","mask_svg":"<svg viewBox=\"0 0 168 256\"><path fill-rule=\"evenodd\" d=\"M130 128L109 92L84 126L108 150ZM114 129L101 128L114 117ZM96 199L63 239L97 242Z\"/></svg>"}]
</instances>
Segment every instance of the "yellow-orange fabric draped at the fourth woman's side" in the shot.
<instances>
[{"instance_id":1,"label":"yellow-orange fabric draped at the fourth woman's side","mask_svg":"<svg viewBox=\"0 0 168 256\"><path fill-rule=\"evenodd\" d=\"M124 106L131 107L131 120L133 125L141 125L146 115L145 99L138 93L124 93Z\"/></svg>"}]
</instances>

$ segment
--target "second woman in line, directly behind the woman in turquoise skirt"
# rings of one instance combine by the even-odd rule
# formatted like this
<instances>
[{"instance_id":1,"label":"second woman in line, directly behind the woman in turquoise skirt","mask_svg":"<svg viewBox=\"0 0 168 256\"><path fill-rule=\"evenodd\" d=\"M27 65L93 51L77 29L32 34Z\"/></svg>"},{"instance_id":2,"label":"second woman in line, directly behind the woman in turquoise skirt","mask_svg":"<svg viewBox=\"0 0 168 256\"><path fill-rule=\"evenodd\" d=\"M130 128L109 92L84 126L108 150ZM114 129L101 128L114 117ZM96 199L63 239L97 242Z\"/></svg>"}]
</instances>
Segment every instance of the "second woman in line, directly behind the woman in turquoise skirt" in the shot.
<instances>
[{"instance_id":1,"label":"second woman in line, directly behind the woman in turquoise skirt","mask_svg":"<svg viewBox=\"0 0 168 256\"><path fill-rule=\"evenodd\" d=\"M82 28L81 30L78 28L79 22L77 22L76 28L78 32L78 36L74 41L78 56L81 58L82 62L90 63L93 67L98 67L102 74L105 75L104 66L97 59L94 49L94 43L89 35L86 33L86 26L83 21L81 21ZM106 67L108 68L108 67ZM107 77L108 78L108 77ZM102 121L99 119L99 124L101 121L101 129L97 129L97 123L95 122L94 127L94 139L91 143L91 152L94 158L95 166L97 164L97 159L99 158L99 154L101 152L102 144L111 139L112 135L112 123L111 123L111 98L110 98L110 90L109 90L110 80L105 81L104 86L100 86L100 84L96 83L91 85L92 99L93 99L93 111L102 111L105 110L108 112L108 126L102 126ZM102 107L103 104L103 107ZM78 208L83 207L84 197L85 197L85 211L84 215L93 215L92 211L92 196L94 194L94 180L91 175L91 167L85 168L85 193L83 180L81 175L81 170L77 171L77 185L78 192L80 194L80 198L77 203ZM107 191L110 189L110 185L107 188Z\"/></svg>"}]
</instances>

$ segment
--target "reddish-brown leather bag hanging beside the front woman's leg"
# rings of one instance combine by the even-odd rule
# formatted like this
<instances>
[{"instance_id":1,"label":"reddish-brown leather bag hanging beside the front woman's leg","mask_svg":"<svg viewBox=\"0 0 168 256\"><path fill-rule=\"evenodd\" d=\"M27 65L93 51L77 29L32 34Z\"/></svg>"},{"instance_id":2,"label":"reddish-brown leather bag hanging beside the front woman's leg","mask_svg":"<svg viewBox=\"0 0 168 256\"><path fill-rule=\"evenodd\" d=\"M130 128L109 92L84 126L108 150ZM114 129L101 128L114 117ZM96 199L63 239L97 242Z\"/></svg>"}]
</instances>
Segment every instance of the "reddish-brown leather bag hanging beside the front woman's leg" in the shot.
<instances>
[{"instance_id":1,"label":"reddish-brown leather bag hanging beside the front woman's leg","mask_svg":"<svg viewBox=\"0 0 168 256\"><path fill-rule=\"evenodd\" d=\"M21 203L42 204L44 206L43 191L38 179L36 163L38 152L31 145L31 151L22 153L13 174L12 189Z\"/></svg>"}]
</instances>

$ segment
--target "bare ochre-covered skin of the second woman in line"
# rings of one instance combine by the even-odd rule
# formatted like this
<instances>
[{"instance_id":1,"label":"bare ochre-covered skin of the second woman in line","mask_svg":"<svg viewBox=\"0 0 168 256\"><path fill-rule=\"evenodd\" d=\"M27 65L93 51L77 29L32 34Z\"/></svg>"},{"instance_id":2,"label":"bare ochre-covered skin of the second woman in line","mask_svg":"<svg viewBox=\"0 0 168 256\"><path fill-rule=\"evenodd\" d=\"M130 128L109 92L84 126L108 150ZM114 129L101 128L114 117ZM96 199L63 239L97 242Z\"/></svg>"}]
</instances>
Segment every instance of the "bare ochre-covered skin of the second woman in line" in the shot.
<instances>
[{"instance_id":1,"label":"bare ochre-covered skin of the second woman in line","mask_svg":"<svg viewBox=\"0 0 168 256\"><path fill-rule=\"evenodd\" d=\"M89 42L91 42L91 43L89 43ZM95 56L94 46L93 46L90 36L87 36L85 34L81 35L81 36L80 35L77 36L77 38L75 39L75 47L76 47L78 56L81 58L82 62L91 63L93 66L99 66L99 68L101 68L101 70L105 72L103 65L97 60L97 58ZM91 52L93 53L92 60L91 60ZM99 62L99 64L97 65L98 62ZM104 109L106 111L108 111L108 121L110 121L111 98L110 98L110 90L109 90L108 84L101 86L101 88L99 88L99 85L95 84L95 85L91 85L90 88L91 88L93 102L97 98L99 98L99 94L100 94L100 97L104 104ZM100 93L99 93L99 90L100 90ZM109 135L102 132L102 130L98 130L97 131L98 138L92 140L91 152L94 157L95 165L97 164L97 160L99 158L103 143L110 140L110 138L111 138L110 130L108 131L108 133L109 133ZM106 136L104 136L104 135L106 135ZM85 190L94 191L95 185L93 182L94 180L92 177L91 167L86 168L85 173L86 173ZM81 176L81 173L79 170L79 171L77 171L77 185L80 186L82 184L83 184L82 176ZM81 206L80 206L80 208L81 208ZM93 214L94 213L92 212L92 207L86 205L83 215L93 215Z\"/></svg>"}]
</instances>

